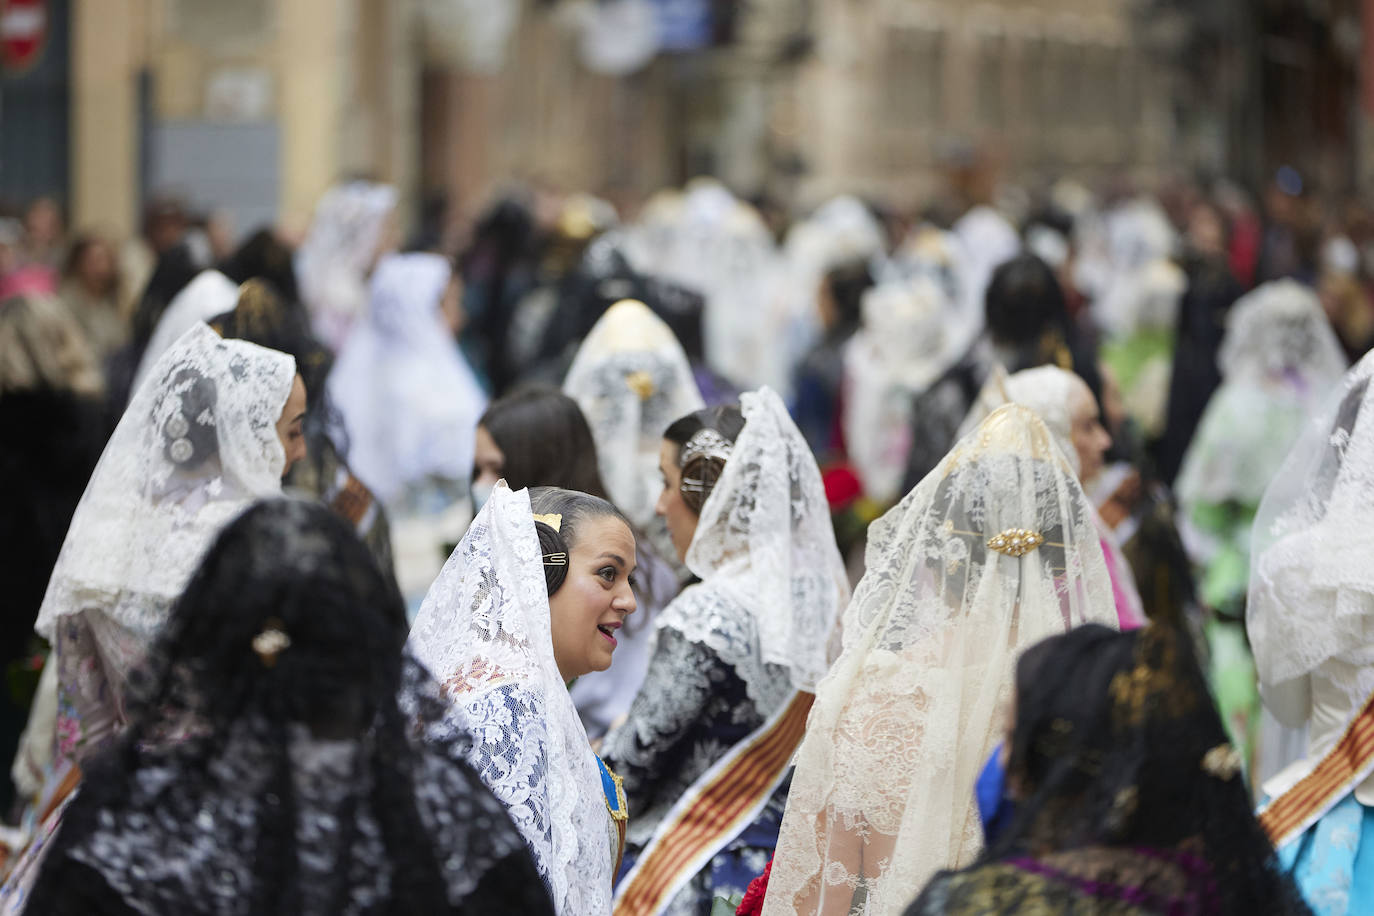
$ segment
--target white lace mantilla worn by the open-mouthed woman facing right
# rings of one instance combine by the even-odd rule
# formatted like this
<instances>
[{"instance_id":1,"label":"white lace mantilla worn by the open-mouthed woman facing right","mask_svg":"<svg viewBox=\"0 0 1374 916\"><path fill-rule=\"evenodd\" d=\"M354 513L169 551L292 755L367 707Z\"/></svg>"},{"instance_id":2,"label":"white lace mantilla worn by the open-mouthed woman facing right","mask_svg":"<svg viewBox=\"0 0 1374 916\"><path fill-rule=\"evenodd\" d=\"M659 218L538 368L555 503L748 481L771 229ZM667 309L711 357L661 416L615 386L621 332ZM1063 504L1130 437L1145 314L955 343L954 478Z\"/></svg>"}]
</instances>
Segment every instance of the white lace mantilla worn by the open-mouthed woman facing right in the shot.
<instances>
[{"instance_id":1,"label":"white lace mantilla worn by the open-mouthed woman facing right","mask_svg":"<svg viewBox=\"0 0 1374 916\"><path fill-rule=\"evenodd\" d=\"M467 762L506 805L559 916L610 912L600 770L558 673L529 493L496 488L449 556L408 648L471 736Z\"/></svg>"}]
</instances>

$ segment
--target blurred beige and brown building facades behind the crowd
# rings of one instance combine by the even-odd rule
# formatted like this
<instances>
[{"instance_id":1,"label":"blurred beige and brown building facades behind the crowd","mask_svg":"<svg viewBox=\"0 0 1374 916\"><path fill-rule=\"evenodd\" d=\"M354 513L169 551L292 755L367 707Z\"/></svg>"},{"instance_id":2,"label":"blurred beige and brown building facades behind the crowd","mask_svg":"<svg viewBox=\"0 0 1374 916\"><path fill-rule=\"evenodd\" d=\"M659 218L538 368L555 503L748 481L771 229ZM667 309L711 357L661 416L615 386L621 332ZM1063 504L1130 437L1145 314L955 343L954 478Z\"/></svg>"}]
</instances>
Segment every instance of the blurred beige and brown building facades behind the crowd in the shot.
<instances>
[{"instance_id":1,"label":"blurred beige and brown building facades behind the crowd","mask_svg":"<svg viewBox=\"0 0 1374 916\"><path fill-rule=\"evenodd\" d=\"M607 63L633 22L596 16L636 4L706 27ZM800 205L916 205L951 177L967 196L1061 174L1259 181L1289 159L1374 187L1371 0L23 5L48 47L0 82L0 196L55 192L117 232L165 191L240 232L302 228L349 176L396 184L407 214L438 191L471 213L510 179L621 203L698 173Z\"/></svg>"}]
</instances>

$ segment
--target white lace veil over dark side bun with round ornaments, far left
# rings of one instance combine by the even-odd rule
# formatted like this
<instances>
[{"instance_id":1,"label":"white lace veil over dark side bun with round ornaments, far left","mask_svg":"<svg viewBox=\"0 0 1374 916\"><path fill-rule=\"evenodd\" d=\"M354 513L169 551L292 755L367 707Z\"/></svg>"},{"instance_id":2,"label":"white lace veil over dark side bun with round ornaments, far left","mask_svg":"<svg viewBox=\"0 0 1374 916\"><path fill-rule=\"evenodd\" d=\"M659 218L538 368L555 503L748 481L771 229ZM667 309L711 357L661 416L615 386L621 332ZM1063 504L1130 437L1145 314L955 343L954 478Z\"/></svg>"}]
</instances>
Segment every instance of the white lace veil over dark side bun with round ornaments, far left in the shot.
<instances>
[{"instance_id":1,"label":"white lace veil over dark side bun with round ornaments, far left","mask_svg":"<svg viewBox=\"0 0 1374 916\"><path fill-rule=\"evenodd\" d=\"M99 610L151 636L214 534L280 493L276 422L295 361L195 324L148 369L96 464L36 630Z\"/></svg>"}]
</instances>

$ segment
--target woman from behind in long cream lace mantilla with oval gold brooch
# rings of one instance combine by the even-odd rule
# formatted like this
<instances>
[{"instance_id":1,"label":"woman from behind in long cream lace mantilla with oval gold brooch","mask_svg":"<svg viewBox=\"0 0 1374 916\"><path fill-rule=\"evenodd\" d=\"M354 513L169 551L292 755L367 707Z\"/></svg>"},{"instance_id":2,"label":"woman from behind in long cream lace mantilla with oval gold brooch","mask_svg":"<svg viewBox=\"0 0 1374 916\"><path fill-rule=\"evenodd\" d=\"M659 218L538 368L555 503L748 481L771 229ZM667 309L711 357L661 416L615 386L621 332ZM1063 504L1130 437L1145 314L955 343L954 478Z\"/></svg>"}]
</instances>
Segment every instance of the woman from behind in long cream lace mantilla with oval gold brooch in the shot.
<instances>
[{"instance_id":1,"label":"woman from behind in long cream lace mantilla with oval gold brooch","mask_svg":"<svg viewBox=\"0 0 1374 916\"><path fill-rule=\"evenodd\" d=\"M868 530L764 913L900 913L973 861L1013 663L1087 622L1117 623L1091 505L1044 423L1006 405Z\"/></svg>"}]
</instances>

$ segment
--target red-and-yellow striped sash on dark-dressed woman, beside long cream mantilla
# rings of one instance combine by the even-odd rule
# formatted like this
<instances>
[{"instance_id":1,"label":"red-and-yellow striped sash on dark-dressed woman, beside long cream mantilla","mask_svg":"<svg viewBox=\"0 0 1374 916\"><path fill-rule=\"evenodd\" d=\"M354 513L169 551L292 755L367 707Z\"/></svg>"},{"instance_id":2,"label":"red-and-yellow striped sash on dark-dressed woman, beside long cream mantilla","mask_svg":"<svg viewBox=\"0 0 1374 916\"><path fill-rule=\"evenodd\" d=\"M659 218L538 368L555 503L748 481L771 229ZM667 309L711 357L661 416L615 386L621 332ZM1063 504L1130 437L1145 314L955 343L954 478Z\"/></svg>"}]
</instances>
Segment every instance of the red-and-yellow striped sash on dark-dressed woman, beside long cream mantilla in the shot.
<instances>
[{"instance_id":1,"label":"red-and-yellow striped sash on dark-dressed woman, beside long cream mantilla","mask_svg":"<svg viewBox=\"0 0 1374 916\"><path fill-rule=\"evenodd\" d=\"M677 799L616 894L616 916L654 916L758 816L807 731L815 694L797 692Z\"/></svg>"}]
</instances>

